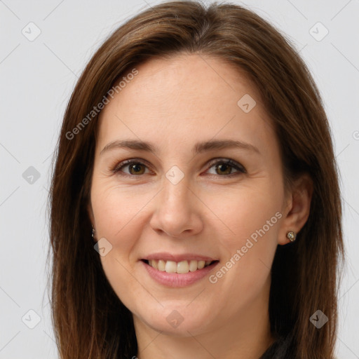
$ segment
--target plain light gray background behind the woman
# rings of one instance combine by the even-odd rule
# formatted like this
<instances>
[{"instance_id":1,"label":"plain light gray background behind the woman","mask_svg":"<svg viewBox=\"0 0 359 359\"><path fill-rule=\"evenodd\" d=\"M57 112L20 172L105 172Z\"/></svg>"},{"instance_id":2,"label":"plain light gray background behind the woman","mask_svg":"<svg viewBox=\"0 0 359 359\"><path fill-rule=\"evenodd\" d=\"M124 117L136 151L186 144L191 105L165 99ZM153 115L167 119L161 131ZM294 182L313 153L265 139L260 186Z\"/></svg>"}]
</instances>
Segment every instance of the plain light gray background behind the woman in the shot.
<instances>
[{"instance_id":1,"label":"plain light gray background behind the woman","mask_svg":"<svg viewBox=\"0 0 359 359\"><path fill-rule=\"evenodd\" d=\"M104 38L158 2L0 1L0 359L57 358L46 292L46 198L60 123L79 74ZM290 37L323 95L341 170L348 254L337 355L359 358L359 1L233 2ZM41 30L34 41L22 34L36 34L29 22ZM325 28L317 22L329 31L321 41ZM39 179L22 177L30 166ZM27 326L36 324L30 309L40 319L34 329Z\"/></svg>"}]
</instances>

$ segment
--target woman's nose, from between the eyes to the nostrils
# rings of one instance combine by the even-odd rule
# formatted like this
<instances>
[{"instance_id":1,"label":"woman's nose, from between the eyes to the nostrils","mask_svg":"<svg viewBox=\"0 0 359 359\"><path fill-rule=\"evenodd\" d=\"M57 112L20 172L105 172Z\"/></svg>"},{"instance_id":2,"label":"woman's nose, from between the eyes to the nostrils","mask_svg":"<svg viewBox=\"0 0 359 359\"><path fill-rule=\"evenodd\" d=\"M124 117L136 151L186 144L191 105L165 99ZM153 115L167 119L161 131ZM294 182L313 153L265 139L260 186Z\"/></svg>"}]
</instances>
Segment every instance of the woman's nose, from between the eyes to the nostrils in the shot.
<instances>
[{"instance_id":1,"label":"woman's nose, from between the eyes to the nostrils","mask_svg":"<svg viewBox=\"0 0 359 359\"><path fill-rule=\"evenodd\" d=\"M203 203L195 191L189 188L185 177L177 184L167 178L163 182L163 188L156 196L155 209L150 220L151 228L174 238L200 233L203 229Z\"/></svg>"}]
</instances>

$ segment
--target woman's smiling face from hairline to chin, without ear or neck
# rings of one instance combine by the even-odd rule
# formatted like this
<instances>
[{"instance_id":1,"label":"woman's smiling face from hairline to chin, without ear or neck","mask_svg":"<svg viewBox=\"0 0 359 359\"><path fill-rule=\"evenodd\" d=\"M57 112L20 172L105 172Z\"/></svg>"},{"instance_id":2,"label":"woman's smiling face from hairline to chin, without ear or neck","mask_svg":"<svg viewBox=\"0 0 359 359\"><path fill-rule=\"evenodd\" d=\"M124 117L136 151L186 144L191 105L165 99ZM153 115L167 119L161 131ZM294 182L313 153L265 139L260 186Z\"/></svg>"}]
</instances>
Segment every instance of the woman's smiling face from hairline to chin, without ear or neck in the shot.
<instances>
[{"instance_id":1,"label":"woman's smiling face from hairline to chin, without ear or neck","mask_svg":"<svg viewBox=\"0 0 359 359\"><path fill-rule=\"evenodd\" d=\"M137 70L100 114L89 212L104 273L137 327L249 323L268 308L287 213L259 95L214 57Z\"/></svg>"}]
</instances>

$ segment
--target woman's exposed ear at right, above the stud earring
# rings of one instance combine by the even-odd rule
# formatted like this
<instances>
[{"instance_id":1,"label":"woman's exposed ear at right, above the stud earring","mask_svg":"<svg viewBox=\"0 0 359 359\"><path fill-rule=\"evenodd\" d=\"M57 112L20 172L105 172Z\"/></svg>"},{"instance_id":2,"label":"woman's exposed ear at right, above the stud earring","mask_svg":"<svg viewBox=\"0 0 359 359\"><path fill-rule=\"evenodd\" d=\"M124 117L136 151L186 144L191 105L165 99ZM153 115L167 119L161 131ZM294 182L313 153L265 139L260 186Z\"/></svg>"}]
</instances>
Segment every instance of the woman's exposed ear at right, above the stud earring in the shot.
<instances>
[{"instance_id":1,"label":"woman's exposed ear at right, above the stud earring","mask_svg":"<svg viewBox=\"0 0 359 359\"><path fill-rule=\"evenodd\" d=\"M313 180L307 173L301 175L287 194L285 210L283 210L283 220L278 232L278 244L285 245L290 243L287 238L289 231L298 233L306 224L311 208L311 198L313 195Z\"/></svg>"}]
</instances>

